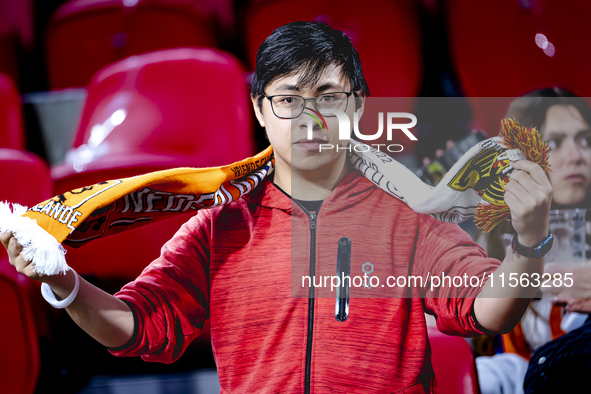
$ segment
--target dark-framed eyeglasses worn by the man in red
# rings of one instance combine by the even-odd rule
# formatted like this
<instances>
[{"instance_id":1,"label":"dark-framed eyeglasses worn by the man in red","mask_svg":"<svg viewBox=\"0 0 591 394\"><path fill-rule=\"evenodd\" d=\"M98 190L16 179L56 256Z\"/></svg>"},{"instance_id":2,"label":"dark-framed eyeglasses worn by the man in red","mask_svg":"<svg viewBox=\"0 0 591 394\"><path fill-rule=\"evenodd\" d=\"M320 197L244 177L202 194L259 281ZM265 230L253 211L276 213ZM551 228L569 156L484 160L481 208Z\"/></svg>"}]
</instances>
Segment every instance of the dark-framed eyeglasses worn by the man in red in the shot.
<instances>
[{"instance_id":1,"label":"dark-framed eyeglasses worn by the man in red","mask_svg":"<svg viewBox=\"0 0 591 394\"><path fill-rule=\"evenodd\" d=\"M336 116L331 111L346 111L349 97L353 92L331 92L320 94L313 98L305 98L293 94L278 94L267 96L271 102L273 114L281 119L295 119L299 117L306 107L306 101L313 101L314 107L322 116Z\"/></svg>"}]
</instances>

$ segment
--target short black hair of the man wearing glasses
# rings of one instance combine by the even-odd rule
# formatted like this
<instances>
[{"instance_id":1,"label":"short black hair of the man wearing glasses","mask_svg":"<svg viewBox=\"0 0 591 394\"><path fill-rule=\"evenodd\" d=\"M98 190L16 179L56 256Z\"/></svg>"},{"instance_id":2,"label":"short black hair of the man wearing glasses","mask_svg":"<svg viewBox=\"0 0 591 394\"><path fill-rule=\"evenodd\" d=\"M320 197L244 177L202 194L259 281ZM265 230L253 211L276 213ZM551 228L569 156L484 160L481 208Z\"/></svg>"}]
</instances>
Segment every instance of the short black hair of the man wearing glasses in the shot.
<instances>
[{"instance_id":1,"label":"short black hair of the man wearing glasses","mask_svg":"<svg viewBox=\"0 0 591 394\"><path fill-rule=\"evenodd\" d=\"M265 87L274 79L301 72L298 84L313 85L329 65L341 66L353 92L369 96L359 54L345 33L321 22L288 23L259 47L250 94L261 108Z\"/></svg>"}]
</instances>

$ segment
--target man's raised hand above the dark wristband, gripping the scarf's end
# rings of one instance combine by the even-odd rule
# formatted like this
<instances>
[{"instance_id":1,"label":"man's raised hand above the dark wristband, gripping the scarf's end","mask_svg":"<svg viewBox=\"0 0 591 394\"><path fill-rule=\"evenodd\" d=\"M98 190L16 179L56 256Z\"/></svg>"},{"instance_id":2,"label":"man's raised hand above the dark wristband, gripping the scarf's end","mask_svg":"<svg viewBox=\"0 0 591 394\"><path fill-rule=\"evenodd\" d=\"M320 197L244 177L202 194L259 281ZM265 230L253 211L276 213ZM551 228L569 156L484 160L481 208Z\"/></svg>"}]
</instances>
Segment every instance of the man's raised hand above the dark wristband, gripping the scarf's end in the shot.
<instances>
[{"instance_id":1,"label":"man's raised hand above the dark wristband, gripping the scarf's end","mask_svg":"<svg viewBox=\"0 0 591 394\"><path fill-rule=\"evenodd\" d=\"M517 240L534 246L548 236L548 215L552 185L542 168L528 160L511 162L515 170L505 185L505 202L511 210L511 224Z\"/></svg>"}]
</instances>

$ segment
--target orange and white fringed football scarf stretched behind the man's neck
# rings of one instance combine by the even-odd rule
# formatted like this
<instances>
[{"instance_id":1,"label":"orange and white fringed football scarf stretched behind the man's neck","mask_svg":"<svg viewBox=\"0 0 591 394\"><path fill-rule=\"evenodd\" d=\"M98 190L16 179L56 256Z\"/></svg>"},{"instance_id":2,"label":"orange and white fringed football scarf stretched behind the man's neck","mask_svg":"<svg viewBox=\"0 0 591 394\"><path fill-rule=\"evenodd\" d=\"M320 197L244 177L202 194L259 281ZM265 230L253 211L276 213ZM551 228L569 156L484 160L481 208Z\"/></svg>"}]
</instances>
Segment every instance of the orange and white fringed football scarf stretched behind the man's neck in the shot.
<instances>
[{"instance_id":1,"label":"orange and white fringed football scarf stretched behind the man's neck","mask_svg":"<svg viewBox=\"0 0 591 394\"><path fill-rule=\"evenodd\" d=\"M383 152L350 141L350 163L390 195L418 213L459 223L474 216L487 232L509 217L504 186L511 160L527 158L548 167L549 148L534 129L503 121L500 137L470 149L435 188ZM23 258L40 274L65 273L62 243L80 246L93 239L236 201L274 169L273 149L214 168L176 168L110 180L60 194L27 210L0 203L0 231L12 231Z\"/></svg>"}]
</instances>

